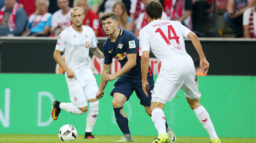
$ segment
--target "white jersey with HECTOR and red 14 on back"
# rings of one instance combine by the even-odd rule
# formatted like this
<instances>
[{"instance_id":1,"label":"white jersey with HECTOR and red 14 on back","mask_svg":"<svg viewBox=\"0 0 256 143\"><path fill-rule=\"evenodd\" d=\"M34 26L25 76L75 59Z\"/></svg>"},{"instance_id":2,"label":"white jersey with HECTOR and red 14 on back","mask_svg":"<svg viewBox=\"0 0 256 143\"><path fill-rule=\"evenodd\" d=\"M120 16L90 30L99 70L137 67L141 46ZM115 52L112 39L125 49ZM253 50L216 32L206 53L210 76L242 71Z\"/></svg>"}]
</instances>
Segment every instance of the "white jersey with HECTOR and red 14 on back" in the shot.
<instances>
[{"instance_id":1,"label":"white jersey with HECTOR and red 14 on back","mask_svg":"<svg viewBox=\"0 0 256 143\"><path fill-rule=\"evenodd\" d=\"M178 21L154 20L140 31L140 55L143 51L152 51L161 61L161 68L167 71L194 66L185 48L184 38L188 38L189 32L191 30Z\"/></svg>"}]
</instances>

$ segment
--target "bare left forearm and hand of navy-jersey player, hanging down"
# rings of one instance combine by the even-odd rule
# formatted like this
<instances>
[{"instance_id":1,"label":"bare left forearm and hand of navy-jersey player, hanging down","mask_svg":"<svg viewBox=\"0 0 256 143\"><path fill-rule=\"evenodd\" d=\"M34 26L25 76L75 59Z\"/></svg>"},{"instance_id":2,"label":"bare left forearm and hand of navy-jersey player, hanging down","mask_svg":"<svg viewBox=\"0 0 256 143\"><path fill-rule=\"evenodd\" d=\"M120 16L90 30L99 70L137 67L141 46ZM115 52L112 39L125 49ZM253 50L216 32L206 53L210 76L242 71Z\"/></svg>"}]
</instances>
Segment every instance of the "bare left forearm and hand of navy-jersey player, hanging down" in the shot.
<instances>
[{"instance_id":1,"label":"bare left forearm and hand of navy-jersey player, hanging down","mask_svg":"<svg viewBox=\"0 0 256 143\"><path fill-rule=\"evenodd\" d=\"M104 68L103 68L103 71L101 73L101 83L100 83L100 86L98 88L98 93L96 94L96 99L100 99L101 97L103 97L104 95L104 89L107 85L107 80L105 79L105 76L107 74L110 74L111 72L111 64L109 65L106 65L104 64Z\"/></svg>"}]
</instances>

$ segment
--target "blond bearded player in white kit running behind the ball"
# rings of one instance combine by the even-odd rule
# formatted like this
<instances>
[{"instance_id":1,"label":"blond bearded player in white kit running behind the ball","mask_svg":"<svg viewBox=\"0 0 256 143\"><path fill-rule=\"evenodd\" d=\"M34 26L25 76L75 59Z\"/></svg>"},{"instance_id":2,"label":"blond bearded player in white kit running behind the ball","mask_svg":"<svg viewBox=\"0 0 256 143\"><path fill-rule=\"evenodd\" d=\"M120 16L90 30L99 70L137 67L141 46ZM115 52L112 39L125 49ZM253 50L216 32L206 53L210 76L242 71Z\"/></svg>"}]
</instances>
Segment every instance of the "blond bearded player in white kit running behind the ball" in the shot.
<instances>
[{"instance_id":1,"label":"blond bearded player in white kit running behind the ball","mask_svg":"<svg viewBox=\"0 0 256 143\"><path fill-rule=\"evenodd\" d=\"M55 100L52 117L56 120L61 110L83 114L88 110L88 100L90 108L84 138L96 139L91 132L98 116L98 86L88 65L89 50L99 58L104 58L104 54L97 47L98 40L93 29L82 25L84 9L73 8L71 20L73 25L60 33L53 53L55 61L65 70L71 103L60 103ZM65 62L61 52L65 53Z\"/></svg>"}]
</instances>

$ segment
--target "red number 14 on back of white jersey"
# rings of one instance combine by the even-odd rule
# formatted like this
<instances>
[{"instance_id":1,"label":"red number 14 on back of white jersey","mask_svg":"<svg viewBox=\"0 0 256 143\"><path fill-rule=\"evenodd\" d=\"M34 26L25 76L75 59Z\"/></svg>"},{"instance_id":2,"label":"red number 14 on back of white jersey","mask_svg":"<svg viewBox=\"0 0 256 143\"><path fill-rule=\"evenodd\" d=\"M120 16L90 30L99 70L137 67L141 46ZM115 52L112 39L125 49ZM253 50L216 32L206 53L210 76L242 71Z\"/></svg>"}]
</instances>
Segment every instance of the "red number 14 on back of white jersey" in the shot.
<instances>
[{"instance_id":1,"label":"red number 14 on back of white jersey","mask_svg":"<svg viewBox=\"0 0 256 143\"><path fill-rule=\"evenodd\" d=\"M174 35L173 37L171 37L171 30L172 30L172 33L173 33L173 35ZM180 41L179 41L180 37L177 36L177 34L176 34L176 32L174 31L172 25L169 25L169 26L168 26L168 39L169 39L169 40L167 39L166 35L164 35L163 31L162 31L160 28L158 28L157 30L155 30L155 32L156 32L156 33L159 32L160 35L163 37L163 39L166 41L166 43L167 43L168 45L171 45L171 42L170 42L169 40L172 40L172 39L175 39L176 42L177 42L177 44L180 44Z\"/></svg>"}]
</instances>

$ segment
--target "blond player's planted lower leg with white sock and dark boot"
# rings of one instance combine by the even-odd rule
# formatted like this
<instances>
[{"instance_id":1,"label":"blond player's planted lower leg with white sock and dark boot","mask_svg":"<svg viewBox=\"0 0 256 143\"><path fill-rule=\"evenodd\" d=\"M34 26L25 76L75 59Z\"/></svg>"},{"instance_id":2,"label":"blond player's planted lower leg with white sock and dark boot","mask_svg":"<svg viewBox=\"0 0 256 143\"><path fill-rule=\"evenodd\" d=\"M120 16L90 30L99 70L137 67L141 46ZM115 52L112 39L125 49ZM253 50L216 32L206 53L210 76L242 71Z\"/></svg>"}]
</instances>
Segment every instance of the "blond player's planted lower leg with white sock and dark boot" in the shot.
<instances>
[{"instance_id":1,"label":"blond player's planted lower leg with white sock and dark boot","mask_svg":"<svg viewBox=\"0 0 256 143\"><path fill-rule=\"evenodd\" d=\"M98 100L97 99L90 99L89 101L89 112L87 114L87 120L86 120L86 129L85 129L85 135L84 138L87 139L98 139L95 138L94 135L92 135L93 127L96 123L96 120L98 118Z\"/></svg>"}]
</instances>

